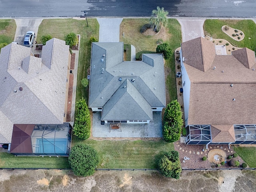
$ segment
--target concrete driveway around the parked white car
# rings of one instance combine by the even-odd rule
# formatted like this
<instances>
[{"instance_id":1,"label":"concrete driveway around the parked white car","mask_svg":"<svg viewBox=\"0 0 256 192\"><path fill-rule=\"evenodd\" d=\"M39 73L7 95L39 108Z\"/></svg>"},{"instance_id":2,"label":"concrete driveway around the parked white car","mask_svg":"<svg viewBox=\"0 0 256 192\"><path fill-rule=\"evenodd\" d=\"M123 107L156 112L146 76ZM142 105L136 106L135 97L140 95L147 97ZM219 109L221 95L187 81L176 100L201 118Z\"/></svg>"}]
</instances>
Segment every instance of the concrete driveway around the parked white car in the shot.
<instances>
[{"instance_id":1,"label":"concrete driveway around the parked white car","mask_svg":"<svg viewBox=\"0 0 256 192\"><path fill-rule=\"evenodd\" d=\"M23 18L23 19L15 19L16 22L16 32L14 36L14 41L18 42L18 44L23 45L24 36L28 31L34 31L37 37L38 26L41 24L43 19L35 19L35 18ZM34 39L34 47L35 47ZM34 53L34 48L31 49Z\"/></svg>"}]
</instances>

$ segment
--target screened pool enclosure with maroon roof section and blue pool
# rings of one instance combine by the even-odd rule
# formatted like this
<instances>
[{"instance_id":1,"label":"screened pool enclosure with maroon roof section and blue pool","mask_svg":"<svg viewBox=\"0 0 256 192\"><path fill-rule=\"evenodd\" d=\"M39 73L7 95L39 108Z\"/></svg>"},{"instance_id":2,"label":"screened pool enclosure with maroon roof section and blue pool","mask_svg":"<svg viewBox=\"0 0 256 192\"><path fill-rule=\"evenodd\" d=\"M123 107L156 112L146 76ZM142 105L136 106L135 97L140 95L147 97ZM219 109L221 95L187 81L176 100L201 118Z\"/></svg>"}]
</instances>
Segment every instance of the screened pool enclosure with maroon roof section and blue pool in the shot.
<instances>
[{"instance_id":1,"label":"screened pool enclosure with maroon roof section and blue pool","mask_svg":"<svg viewBox=\"0 0 256 192\"><path fill-rule=\"evenodd\" d=\"M14 124L10 153L17 156L69 156L72 127L64 124Z\"/></svg>"}]
</instances>

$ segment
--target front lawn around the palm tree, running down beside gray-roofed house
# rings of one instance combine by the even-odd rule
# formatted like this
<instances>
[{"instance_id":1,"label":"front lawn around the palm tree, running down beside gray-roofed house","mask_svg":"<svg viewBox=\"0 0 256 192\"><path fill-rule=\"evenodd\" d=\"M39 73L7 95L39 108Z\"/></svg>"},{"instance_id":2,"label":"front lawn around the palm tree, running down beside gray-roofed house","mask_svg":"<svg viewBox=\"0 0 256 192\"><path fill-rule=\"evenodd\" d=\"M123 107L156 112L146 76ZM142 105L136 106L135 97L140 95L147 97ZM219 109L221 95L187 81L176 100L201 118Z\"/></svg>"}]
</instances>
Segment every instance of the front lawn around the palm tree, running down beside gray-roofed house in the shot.
<instances>
[{"instance_id":1,"label":"front lawn around the palm tree, running down beside gray-roofed house","mask_svg":"<svg viewBox=\"0 0 256 192\"><path fill-rule=\"evenodd\" d=\"M172 57L166 60L165 66L168 66L170 72L166 77L166 87L170 94L170 100L177 99L176 78L175 78L175 60L174 50L180 47L182 42L180 24L176 19L168 19L168 25L164 33L159 33L154 36L145 36L140 33L140 27L148 23L148 19L124 19L120 24L120 41L125 44L132 44L136 48L136 53L139 52L156 52L157 40L162 39L168 42L173 50ZM124 32L124 37L122 36Z\"/></svg>"}]
</instances>

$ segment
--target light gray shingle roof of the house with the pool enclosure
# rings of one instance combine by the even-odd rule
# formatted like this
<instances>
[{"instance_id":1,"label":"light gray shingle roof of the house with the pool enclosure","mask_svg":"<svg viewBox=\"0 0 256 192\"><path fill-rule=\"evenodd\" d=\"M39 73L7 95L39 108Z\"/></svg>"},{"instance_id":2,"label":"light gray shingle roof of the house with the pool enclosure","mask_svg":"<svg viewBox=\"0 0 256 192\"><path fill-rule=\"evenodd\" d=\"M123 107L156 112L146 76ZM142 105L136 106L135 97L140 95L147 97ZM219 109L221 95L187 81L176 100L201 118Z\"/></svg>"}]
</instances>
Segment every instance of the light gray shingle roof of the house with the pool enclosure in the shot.
<instances>
[{"instance_id":1,"label":"light gray shingle roof of the house with the pool enclosure","mask_svg":"<svg viewBox=\"0 0 256 192\"><path fill-rule=\"evenodd\" d=\"M46 42L48 66L30 50L11 43L0 53L0 143L11 142L13 124L63 123L69 46L56 38Z\"/></svg>"}]
</instances>

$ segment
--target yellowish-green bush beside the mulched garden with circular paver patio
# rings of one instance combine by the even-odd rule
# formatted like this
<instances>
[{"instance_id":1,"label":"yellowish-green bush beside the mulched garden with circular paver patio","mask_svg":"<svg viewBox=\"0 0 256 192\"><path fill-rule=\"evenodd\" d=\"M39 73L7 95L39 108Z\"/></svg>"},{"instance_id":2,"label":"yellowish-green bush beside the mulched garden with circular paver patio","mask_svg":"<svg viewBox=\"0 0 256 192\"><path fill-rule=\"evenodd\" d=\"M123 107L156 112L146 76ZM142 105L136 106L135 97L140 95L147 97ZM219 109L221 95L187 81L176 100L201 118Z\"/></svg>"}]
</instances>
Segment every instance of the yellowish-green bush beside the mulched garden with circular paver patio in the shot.
<instances>
[{"instance_id":1,"label":"yellowish-green bush beside the mulched garden with circular paver patio","mask_svg":"<svg viewBox=\"0 0 256 192\"><path fill-rule=\"evenodd\" d=\"M178 151L171 151L164 154L158 162L158 169L166 177L179 179L181 165Z\"/></svg>"}]
</instances>

